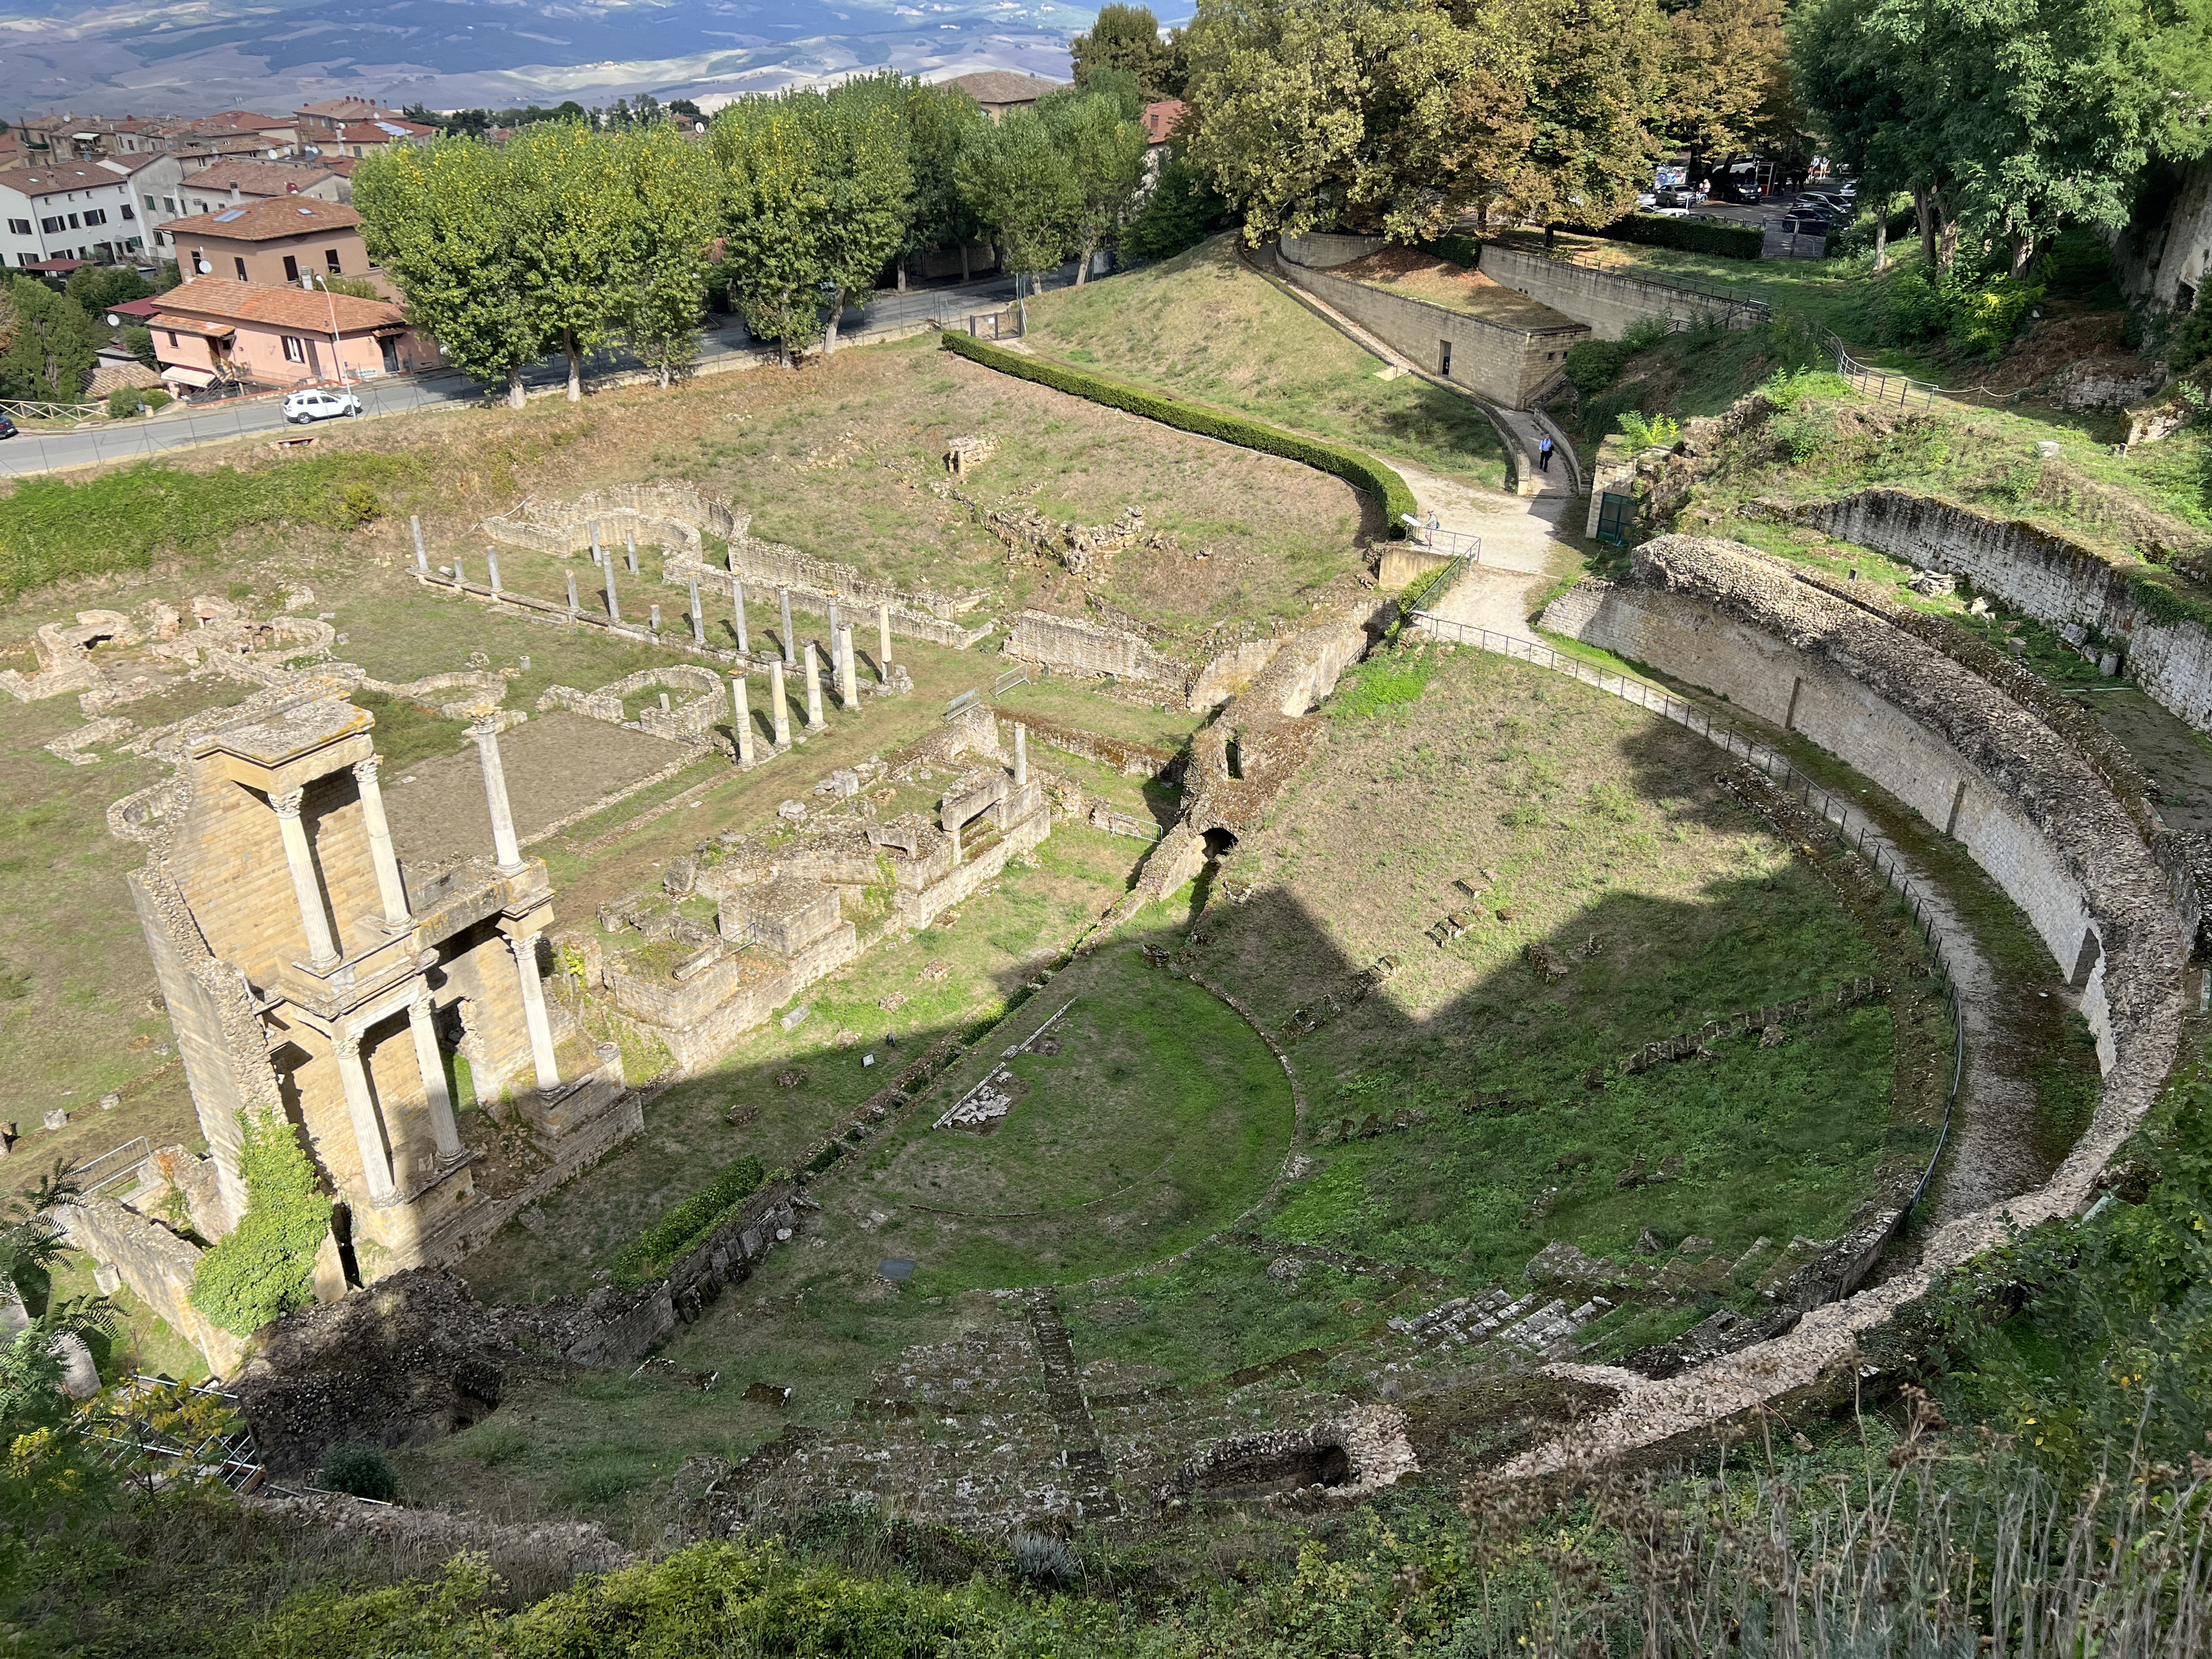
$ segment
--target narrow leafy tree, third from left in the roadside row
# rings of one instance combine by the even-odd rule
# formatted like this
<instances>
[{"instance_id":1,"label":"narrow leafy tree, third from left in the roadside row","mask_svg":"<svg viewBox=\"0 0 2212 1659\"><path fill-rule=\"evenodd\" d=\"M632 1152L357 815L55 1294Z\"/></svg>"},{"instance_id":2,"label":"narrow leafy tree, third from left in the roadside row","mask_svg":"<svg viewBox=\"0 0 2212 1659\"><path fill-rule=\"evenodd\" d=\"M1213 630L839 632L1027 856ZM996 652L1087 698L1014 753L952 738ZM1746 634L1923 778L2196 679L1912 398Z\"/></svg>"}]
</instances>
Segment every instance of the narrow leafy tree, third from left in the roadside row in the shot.
<instances>
[{"instance_id":1,"label":"narrow leafy tree, third from left in the roadside row","mask_svg":"<svg viewBox=\"0 0 2212 1659\"><path fill-rule=\"evenodd\" d=\"M628 133L619 148L635 212L648 228L622 294L622 336L668 385L699 356L719 179L714 159L666 122Z\"/></svg>"}]
</instances>

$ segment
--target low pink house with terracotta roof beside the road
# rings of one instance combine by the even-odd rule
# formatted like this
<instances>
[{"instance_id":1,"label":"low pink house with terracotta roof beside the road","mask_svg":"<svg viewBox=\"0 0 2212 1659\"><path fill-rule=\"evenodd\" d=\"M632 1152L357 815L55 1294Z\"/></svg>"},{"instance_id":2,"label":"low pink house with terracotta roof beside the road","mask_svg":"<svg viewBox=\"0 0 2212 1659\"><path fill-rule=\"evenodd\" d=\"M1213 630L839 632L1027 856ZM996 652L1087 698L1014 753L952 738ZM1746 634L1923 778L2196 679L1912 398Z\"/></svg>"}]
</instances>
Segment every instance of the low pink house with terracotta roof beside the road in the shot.
<instances>
[{"instance_id":1,"label":"low pink house with terracotta roof beside the road","mask_svg":"<svg viewBox=\"0 0 2212 1659\"><path fill-rule=\"evenodd\" d=\"M380 299L199 276L161 294L159 305L146 325L161 380L179 394L217 380L374 380L438 363L400 307Z\"/></svg>"}]
</instances>

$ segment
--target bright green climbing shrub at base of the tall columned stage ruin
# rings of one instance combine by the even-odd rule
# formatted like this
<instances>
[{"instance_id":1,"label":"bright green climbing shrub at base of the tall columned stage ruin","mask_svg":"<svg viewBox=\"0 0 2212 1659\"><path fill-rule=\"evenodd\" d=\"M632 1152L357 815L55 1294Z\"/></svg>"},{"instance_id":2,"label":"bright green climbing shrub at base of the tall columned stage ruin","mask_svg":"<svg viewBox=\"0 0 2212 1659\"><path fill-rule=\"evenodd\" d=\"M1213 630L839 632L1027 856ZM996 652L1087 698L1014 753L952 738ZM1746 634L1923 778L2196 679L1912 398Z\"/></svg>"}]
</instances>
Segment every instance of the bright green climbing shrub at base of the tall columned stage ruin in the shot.
<instances>
[{"instance_id":1,"label":"bright green climbing shrub at base of the tall columned stage ruin","mask_svg":"<svg viewBox=\"0 0 2212 1659\"><path fill-rule=\"evenodd\" d=\"M314 1252L330 1232L330 1199L283 1117L246 1113L239 1130L246 1214L199 1256L192 1307L232 1336L252 1336L314 1301Z\"/></svg>"}]
</instances>

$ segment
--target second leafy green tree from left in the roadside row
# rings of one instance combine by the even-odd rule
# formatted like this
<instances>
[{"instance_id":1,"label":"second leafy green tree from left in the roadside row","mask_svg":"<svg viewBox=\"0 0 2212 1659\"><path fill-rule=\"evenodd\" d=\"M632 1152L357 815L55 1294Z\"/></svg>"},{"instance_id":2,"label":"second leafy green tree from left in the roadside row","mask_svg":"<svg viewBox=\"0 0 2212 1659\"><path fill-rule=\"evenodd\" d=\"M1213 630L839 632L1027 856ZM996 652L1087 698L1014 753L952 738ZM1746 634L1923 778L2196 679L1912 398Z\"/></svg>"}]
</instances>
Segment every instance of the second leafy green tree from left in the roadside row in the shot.
<instances>
[{"instance_id":1,"label":"second leafy green tree from left in the roadside row","mask_svg":"<svg viewBox=\"0 0 2212 1659\"><path fill-rule=\"evenodd\" d=\"M644 259L650 230L611 135L546 122L515 133L504 155L522 296L568 358L568 403L577 403L584 354L619 325L624 276Z\"/></svg>"}]
</instances>

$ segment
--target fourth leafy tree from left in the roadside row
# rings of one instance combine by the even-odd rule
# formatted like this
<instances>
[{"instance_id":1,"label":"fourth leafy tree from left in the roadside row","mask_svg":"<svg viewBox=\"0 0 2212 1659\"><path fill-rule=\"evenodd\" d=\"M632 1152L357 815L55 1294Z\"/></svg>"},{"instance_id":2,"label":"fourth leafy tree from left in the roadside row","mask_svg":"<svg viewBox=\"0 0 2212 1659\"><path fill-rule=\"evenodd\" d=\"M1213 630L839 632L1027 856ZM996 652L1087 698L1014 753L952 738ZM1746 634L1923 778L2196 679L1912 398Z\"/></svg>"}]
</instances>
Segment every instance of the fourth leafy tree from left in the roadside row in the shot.
<instances>
[{"instance_id":1,"label":"fourth leafy tree from left in the roadside row","mask_svg":"<svg viewBox=\"0 0 2212 1659\"><path fill-rule=\"evenodd\" d=\"M723 175L723 268L745 327L792 347L821 338L821 285L830 281L816 234L830 212L818 93L741 97L708 137Z\"/></svg>"}]
</instances>

